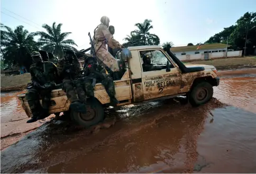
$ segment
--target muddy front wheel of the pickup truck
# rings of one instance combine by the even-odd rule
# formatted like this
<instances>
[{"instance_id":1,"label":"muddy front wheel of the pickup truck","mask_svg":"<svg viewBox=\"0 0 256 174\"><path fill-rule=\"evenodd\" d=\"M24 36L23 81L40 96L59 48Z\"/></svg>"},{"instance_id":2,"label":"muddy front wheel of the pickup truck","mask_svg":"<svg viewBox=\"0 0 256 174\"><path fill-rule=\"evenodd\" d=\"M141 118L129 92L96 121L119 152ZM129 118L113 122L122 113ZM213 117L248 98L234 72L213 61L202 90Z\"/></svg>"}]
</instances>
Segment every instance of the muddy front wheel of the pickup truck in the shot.
<instances>
[{"instance_id":1,"label":"muddy front wheel of the pickup truck","mask_svg":"<svg viewBox=\"0 0 256 174\"><path fill-rule=\"evenodd\" d=\"M213 86L206 81L197 83L188 94L188 100L192 106L203 105L212 97Z\"/></svg>"}]
</instances>

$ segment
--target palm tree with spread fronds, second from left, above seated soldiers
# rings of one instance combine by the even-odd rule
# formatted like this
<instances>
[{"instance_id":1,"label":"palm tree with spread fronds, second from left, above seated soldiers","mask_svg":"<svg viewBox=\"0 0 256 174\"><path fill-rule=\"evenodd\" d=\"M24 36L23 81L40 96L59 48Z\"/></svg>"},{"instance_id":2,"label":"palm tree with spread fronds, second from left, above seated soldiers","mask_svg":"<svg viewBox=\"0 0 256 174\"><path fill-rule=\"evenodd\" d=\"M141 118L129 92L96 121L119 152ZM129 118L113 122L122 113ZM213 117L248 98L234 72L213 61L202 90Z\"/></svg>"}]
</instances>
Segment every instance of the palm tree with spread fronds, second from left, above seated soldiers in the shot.
<instances>
[{"instance_id":1,"label":"palm tree with spread fronds, second from left, above seated soldiers","mask_svg":"<svg viewBox=\"0 0 256 174\"><path fill-rule=\"evenodd\" d=\"M35 35L40 35L41 38L38 39L38 42L43 46L42 50L47 52L53 52L59 58L62 58L64 53L63 49L72 49L77 52L77 49L71 45L77 44L72 39L66 39L71 32L61 33L62 24L56 26L56 22L53 22L52 27L43 24L42 27L47 31L38 31Z\"/></svg>"}]
</instances>

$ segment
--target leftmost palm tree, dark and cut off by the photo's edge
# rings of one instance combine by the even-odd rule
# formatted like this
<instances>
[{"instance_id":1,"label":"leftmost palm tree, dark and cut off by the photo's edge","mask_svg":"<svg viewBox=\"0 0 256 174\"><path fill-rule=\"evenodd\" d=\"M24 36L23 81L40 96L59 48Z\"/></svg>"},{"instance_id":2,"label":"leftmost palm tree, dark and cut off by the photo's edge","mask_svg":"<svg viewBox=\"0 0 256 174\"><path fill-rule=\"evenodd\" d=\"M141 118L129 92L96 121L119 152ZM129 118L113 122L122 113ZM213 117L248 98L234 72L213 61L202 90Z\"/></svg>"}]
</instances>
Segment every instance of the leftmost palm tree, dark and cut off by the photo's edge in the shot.
<instances>
[{"instance_id":1,"label":"leftmost palm tree, dark and cut off by the photo's edge","mask_svg":"<svg viewBox=\"0 0 256 174\"><path fill-rule=\"evenodd\" d=\"M3 47L3 48L2 48ZM34 41L34 33L17 26L14 30L1 25L1 52L5 65L25 66L28 70L32 63L30 53L39 49Z\"/></svg>"}]
</instances>

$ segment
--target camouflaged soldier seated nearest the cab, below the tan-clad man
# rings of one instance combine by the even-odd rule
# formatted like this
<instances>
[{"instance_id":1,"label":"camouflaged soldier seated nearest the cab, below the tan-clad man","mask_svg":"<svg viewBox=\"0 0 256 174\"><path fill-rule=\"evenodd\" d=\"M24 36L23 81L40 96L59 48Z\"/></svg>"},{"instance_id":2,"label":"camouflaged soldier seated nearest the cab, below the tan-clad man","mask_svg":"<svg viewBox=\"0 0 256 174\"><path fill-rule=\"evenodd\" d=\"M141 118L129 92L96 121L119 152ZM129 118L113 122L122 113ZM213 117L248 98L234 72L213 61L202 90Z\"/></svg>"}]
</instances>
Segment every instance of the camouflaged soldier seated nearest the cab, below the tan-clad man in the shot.
<instances>
[{"instance_id":1,"label":"camouflaged soldier seated nearest the cab, below the tan-clad man","mask_svg":"<svg viewBox=\"0 0 256 174\"><path fill-rule=\"evenodd\" d=\"M94 87L96 83L102 83L106 92L110 98L111 105L116 107L119 103L115 98L115 84L112 77L108 74L105 68L97 65L97 62L93 55L87 54L85 61L85 90L88 97L94 98Z\"/></svg>"}]
</instances>

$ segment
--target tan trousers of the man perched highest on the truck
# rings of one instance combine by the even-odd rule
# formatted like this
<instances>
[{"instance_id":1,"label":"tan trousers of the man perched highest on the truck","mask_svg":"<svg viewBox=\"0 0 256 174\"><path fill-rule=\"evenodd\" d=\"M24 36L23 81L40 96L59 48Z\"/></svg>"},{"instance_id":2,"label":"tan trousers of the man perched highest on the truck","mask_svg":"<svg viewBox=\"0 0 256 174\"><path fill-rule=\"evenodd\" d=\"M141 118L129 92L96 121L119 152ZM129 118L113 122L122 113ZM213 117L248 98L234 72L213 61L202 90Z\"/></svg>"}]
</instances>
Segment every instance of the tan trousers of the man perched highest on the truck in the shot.
<instances>
[{"instance_id":1,"label":"tan trousers of the man perched highest on the truck","mask_svg":"<svg viewBox=\"0 0 256 174\"><path fill-rule=\"evenodd\" d=\"M114 71L119 71L117 60L104 48L99 48L96 53L97 58L102 66L107 66L109 69Z\"/></svg>"}]
</instances>

